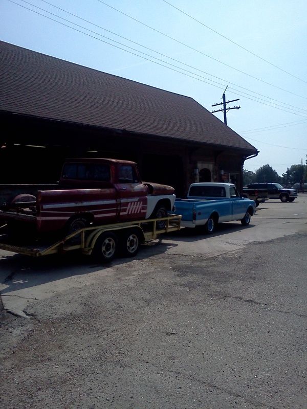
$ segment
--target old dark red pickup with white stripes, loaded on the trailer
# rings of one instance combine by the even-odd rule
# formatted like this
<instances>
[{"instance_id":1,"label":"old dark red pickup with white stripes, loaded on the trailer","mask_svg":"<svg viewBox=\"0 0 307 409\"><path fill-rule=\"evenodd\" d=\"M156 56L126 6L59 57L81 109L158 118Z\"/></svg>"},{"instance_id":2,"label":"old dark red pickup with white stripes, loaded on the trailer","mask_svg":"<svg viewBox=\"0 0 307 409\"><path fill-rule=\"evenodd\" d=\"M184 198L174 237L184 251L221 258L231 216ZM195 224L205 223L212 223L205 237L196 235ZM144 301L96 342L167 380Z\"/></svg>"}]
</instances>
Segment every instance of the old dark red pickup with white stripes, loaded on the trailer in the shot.
<instances>
[{"instance_id":1,"label":"old dark red pickup with white stripes, loaded on the trailer","mask_svg":"<svg viewBox=\"0 0 307 409\"><path fill-rule=\"evenodd\" d=\"M171 186L142 182L135 162L72 158L65 161L56 189L20 194L2 205L0 225L70 234L92 224L167 217L175 199Z\"/></svg>"}]
</instances>

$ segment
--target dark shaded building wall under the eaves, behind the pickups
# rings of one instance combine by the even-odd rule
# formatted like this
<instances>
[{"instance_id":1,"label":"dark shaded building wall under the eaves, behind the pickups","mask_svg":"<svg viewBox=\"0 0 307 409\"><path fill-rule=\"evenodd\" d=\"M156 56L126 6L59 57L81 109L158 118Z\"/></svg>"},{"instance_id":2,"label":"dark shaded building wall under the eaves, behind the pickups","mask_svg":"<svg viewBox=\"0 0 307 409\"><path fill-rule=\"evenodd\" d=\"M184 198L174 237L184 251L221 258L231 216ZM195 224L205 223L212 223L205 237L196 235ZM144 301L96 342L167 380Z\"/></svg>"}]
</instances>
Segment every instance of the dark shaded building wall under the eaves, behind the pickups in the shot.
<instances>
[{"instance_id":1,"label":"dark shaded building wall under the eaves, behind the pickups","mask_svg":"<svg viewBox=\"0 0 307 409\"><path fill-rule=\"evenodd\" d=\"M137 162L144 181L173 186L178 197L204 174L242 187L243 153L231 149L10 115L2 127L0 184L55 183L66 157L112 157Z\"/></svg>"}]
</instances>

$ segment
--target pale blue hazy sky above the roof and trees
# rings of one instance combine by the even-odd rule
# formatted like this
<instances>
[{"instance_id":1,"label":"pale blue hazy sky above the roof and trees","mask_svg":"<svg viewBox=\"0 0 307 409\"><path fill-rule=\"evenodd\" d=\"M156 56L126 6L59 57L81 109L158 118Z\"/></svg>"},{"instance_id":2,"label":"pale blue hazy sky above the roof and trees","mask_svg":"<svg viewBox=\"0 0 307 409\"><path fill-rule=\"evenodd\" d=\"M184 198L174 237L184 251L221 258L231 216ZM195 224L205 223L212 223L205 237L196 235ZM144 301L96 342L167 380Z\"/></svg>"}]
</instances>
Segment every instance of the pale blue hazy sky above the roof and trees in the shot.
<instances>
[{"instance_id":1,"label":"pale blue hazy sky above the roof and trees","mask_svg":"<svg viewBox=\"0 0 307 409\"><path fill-rule=\"evenodd\" d=\"M281 175L305 163L305 1L2 0L0 14L3 41L189 96L209 111L227 87L226 100L239 98L229 106L240 106L228 111L228 126L260 151L245 169L269 164Z\"/></svg>"}]
</instances>

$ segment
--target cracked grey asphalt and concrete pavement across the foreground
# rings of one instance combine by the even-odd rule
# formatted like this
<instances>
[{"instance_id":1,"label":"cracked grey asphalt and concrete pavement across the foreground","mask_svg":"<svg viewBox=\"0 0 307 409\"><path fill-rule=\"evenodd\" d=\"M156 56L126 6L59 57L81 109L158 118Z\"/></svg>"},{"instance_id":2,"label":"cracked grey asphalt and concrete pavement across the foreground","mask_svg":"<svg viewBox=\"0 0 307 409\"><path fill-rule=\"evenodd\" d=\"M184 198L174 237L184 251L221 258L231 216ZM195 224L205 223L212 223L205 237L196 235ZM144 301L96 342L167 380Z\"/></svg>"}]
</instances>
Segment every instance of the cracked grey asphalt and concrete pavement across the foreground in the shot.
<instances>
[{"instance_id":1,"label":"cracked grey asphalt and concrete pavement across the foreground","mask_svg":"<svg viewBox=\"0 0 307 409\"><path fill-rule=\"evenodd\" d=\"M3 407L305 409L305 203L105 267L0 253Z\"/></svg>"}]
</instances>

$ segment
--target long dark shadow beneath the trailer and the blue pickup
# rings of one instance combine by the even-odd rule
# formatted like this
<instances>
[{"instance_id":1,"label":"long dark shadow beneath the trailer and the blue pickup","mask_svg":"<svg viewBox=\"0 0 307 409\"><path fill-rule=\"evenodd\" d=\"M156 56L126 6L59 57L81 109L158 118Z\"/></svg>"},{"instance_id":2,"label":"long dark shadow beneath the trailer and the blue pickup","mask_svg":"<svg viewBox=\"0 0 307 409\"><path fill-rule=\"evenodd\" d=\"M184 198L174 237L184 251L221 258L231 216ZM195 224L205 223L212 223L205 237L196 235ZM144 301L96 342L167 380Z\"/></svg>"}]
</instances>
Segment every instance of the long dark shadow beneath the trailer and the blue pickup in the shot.
<instances>
[{"instance_id":1,"label":"long dark shadow beneath the trailer and the blue pickup","mask_svg":"<svg viewBox=\"0 0 307 409\"><path fill-rule=\"evenodd\" d=\"M161 235L159 239L141 245L139 253L134 258L117 257L111 263L102 264L91 256L84 256L78 251L66 254L53 254L41 257L31 257L16 253L5 253L0 258L0 282L5 289L2 294L50 283L68 277L92 274L106 270L109 267L131 262L131 260L144 260L151 256L163 255L168 249L176 247L176 242L194 242L210 240L223 234L228 234L242 229L251 229L252 224L242 226L240 223L227 222L217 225L213 234L207 235L203 229L183 228L178 232ZM165 241L164 241L165 240ZM172 242L173 241L173 242Z\"/></svg>"}]
</instances>

